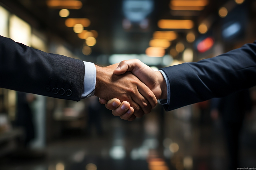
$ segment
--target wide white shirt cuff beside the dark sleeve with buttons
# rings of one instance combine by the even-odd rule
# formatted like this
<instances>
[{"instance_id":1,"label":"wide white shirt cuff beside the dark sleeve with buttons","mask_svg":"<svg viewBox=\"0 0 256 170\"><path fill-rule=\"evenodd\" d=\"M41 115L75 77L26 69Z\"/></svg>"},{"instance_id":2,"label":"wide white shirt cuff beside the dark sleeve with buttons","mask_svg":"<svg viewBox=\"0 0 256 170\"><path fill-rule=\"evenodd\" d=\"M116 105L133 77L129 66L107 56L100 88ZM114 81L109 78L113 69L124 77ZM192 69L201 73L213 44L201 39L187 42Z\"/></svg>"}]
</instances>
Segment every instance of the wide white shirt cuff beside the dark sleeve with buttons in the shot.
<instances>
[{"instance_id":1,"label":"wide white shirt cuff beside the dark sleeve with buttons","mask_svg":"<svg viewBox=\"0 0 256 170\"><path fill-rule=\"evenodd\" d=\"M86 99L94 95L96 84L96 67L93 63L84 62L84 81L81 99Z\"/></svg>"}]
</instances>

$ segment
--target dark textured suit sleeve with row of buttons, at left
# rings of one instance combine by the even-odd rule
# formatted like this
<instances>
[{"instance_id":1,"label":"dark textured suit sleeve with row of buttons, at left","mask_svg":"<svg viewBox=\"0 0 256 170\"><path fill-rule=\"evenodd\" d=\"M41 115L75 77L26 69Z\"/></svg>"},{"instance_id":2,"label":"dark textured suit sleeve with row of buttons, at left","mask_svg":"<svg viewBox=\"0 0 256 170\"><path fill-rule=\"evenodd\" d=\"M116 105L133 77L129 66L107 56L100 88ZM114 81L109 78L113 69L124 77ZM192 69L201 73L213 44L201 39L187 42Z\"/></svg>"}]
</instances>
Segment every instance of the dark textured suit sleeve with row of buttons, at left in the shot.
<instances>
[{"instance_id":1,"label":"dark textured suit sleeve with row of buttons, at left","mask_svg":"<svg viewBox=\"0 0 256 170\"><path fill-rule=\"evenodd\" d=\"M45 53L0 36L0 87L80 101L82 60Z\"/></svg>"}]
</instances>

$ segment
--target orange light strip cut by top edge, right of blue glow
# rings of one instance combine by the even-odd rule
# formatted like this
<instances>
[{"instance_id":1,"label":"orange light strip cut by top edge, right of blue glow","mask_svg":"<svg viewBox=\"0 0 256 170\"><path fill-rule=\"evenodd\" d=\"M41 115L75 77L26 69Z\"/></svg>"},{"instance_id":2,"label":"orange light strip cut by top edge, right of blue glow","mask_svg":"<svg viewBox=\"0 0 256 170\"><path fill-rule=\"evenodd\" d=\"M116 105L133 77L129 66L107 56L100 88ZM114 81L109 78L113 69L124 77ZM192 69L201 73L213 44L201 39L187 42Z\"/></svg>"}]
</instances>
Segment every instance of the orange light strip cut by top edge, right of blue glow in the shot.
<instances>
[{"instance_id":1,"label":"orange light strip cut by top edge, right of blue glow","mask_svg":"<svg viewBox=\"0 0 256 170\"><path fill-rule=\"evenodd\" d=\"M206 6L208 5L207 0L172 0L172 6Z\"/></svg>"}]
</instances>

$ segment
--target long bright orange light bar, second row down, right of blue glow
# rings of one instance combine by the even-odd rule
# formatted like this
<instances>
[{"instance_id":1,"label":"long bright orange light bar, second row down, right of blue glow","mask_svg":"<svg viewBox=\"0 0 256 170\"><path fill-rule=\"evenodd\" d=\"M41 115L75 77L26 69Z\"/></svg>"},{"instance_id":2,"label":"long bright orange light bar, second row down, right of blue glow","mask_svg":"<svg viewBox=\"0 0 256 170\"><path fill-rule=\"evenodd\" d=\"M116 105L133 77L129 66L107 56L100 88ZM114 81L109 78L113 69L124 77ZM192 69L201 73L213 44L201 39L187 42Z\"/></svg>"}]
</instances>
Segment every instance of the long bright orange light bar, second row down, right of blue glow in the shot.
<instances>
[{"instance_id":1,"label":"long bright orange light bar, second row down, right of blue glow","mask_svg":"<svg viewBox=\"0 0 256 170\"><path fill-rule=\"evenodd\" d=\"M163 29L191 29L194 27L194 22L192 20L161 19L157 25Z\"/></svg>"}]
</instances>

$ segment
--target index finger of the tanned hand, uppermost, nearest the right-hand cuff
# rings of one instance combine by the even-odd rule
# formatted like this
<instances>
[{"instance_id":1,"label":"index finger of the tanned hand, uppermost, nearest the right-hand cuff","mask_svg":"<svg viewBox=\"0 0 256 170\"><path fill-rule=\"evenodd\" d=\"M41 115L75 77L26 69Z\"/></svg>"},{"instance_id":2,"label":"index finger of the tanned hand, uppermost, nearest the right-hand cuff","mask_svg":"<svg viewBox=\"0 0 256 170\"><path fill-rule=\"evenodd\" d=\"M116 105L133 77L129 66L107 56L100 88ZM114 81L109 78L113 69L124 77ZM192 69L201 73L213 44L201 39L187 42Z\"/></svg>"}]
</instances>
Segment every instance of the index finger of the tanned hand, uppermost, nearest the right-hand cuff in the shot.
<instances>
[{"instance_id":1,"label":"index finger of the tanned hand, uppermost, nearest the right-hand cuff","mask_svg":"<svg viewBox=\"0 0 256 170\"><path fill-rule=\"evenodd\" d=\"M144 98L150 103L151 108L157 105L157 99L154 93L143 83L138 83L137 85L139 93L144 96ZM150 110L151 111L151 110Z\"/></svg>"}]
</instances>

